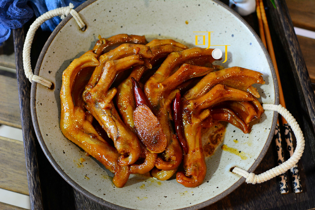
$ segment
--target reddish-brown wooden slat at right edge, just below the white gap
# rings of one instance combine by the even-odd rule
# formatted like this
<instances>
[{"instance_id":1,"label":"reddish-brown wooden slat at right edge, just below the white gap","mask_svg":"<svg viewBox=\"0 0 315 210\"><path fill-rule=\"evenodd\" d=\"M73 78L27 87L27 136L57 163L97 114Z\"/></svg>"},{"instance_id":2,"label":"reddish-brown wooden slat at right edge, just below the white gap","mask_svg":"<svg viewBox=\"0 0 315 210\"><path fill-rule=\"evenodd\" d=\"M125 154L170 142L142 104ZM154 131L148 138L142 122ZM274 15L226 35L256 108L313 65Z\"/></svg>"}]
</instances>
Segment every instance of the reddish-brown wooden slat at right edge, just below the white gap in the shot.
<instances>
[{"instance_id":1,"label":"reddish-brown wooden slat at right edge, just below the white gap","mask_svg":"<svg viewBox=\"0 0 315 210\"><path fill-rule=\"evenodd\" d=\"M297 36L297 39L302 50L302 54L306 63L307 71L311 78L311 82L315 83L315 39L302 36Z\"/></svg>"}]
</instances>

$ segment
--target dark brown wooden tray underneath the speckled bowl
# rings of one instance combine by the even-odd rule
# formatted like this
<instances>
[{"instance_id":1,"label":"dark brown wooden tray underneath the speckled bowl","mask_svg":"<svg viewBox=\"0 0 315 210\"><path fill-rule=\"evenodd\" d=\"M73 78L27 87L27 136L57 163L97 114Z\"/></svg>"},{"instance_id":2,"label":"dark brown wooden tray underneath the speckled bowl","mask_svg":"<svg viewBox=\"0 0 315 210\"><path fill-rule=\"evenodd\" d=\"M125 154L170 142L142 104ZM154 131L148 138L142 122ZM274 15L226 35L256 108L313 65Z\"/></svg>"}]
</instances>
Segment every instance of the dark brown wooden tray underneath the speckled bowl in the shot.
<instances>
[{"instance_id":1,"label":"dark brown wooden tray underneath the speckled bowl","mask_svg":"<svg viewBox=\"0 0 315 210\"><path fill-rule=\"evenodd\" d=\"M262 184L242 184L222 200L203 208L208 209L310 209L315 208L315 97L306 65L293 29L284 0L276 0L277 9L266 1L267 19L272 33L281 83L287 109L295 116L306 140L304 154L299 162L303 192L292 193L289 177L289 194L279 193L277 179ZM257 31L255 14L245 18ZM50 165L37 141L31 122L31 83L24 76L22 49L25 30L14 30L14 48L19 88L20 110L27 176L32 209L109 209L83 196L73 189ZM36 45L32 46L31 60L36 61L49 33L37 31ZM34 69L35 63L32 64ZM255 170L264 172L276 166L276 151L270 146L266 156Z\"/></svg>"}]
</instances>

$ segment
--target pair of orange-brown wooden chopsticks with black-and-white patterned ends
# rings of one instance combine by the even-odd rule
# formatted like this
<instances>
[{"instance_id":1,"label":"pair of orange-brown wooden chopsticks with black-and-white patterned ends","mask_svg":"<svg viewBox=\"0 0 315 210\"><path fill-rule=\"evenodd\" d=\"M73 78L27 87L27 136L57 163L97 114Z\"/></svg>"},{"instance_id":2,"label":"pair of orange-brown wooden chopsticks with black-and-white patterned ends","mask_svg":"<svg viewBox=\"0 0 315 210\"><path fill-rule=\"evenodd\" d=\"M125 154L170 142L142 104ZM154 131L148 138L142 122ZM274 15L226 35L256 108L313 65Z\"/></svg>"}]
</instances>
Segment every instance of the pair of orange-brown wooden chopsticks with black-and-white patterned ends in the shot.
<instances>
[{"instance_id":1,"label":"pair of orange-brown wooden chopsticks with black-and-white patterned ends","mask_svg":"<svg viewBox=\"0 0 315 210\"><path fill-rule=\"evenodd\" d=\"M264 43L264 41L263 41L263 43L265 44L266 48L268 49L268 52L269 52L270 58L272 60L273 66L274 66L276 76L277 76L278 88L279 88L279 102L285 108L286 106L285 106L285 102L284 102L284 96L283 96L282 86L281 86L281 82L280 82L278 66L277 66L277 62L276 62L276 56L275 56L273 46L272 46L272 40L271 40L269 26L268 26L268 22L267 22L267 18L266 18L264 4L263 4L262 0L256 0L256 5L257 5L256 11L260 10L259 12L257 12L258 22L260 22L260 20L262 20L262 25L263 25L263 27L261 27L261 23L259 23L259 31L263 31L263 33L260 32L261 37L262 37L262 35L265 36L264 38L261 38L261 39L265 40L265 38L266 38L266 42ZM285 135L285 140L287 143L287 150L289 151L290 156L292 156L292 154L293 154L292 134L290 132L288 122L283 118L283 116L281 116L281 120L282 120L282 124L284 127L284 135ZM277 125L279 125L279 120L278 120ZM277 132L278 131L276 129L275 134ZM280 144L280 146L279 146L279 144ZM278 141L276 141L276 145L277 145L277 148L278 148L278 146L279 146L279 148L281 148L281 139L280 138L278 139ZM278 156L279 156L279 151L278 151ZM281 159L281 158L283 158L283 155L280 154L280 157L278 159ZM299 174L297 165L292 167L290 169L290 171L291 171L291 176L292 176L294 192L295 193L302 192L302 187L301 187L301 183L300 183L300 174ZM282 178L280 178L280 179L282 179ZM282 186L282 184L280 184L280 186ZM280 187L281 193L283 193L284 188L285 187L282 187L282 188Z\"/></svg>"}]
</instances>

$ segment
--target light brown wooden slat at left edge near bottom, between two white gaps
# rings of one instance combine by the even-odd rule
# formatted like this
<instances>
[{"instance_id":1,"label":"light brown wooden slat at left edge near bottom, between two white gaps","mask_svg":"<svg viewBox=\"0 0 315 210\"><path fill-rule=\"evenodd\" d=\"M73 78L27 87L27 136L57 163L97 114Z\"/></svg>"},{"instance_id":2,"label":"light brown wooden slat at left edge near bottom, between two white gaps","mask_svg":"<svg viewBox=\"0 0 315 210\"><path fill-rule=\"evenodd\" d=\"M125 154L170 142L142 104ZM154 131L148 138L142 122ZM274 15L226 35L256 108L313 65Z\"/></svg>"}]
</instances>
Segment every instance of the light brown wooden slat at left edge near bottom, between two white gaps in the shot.
<instances>
[{"instance_id":1,"label":"light brown wooden slat at left edge near bottom, between two white gaps","mask_svg":"<svg viewBox=\"0 0 315 210\"><path fill-rule=\"evenodd\" d=\"M29 195L23 142L0 136L0 160L0 188Z\"/></svg>"}]
</instances>

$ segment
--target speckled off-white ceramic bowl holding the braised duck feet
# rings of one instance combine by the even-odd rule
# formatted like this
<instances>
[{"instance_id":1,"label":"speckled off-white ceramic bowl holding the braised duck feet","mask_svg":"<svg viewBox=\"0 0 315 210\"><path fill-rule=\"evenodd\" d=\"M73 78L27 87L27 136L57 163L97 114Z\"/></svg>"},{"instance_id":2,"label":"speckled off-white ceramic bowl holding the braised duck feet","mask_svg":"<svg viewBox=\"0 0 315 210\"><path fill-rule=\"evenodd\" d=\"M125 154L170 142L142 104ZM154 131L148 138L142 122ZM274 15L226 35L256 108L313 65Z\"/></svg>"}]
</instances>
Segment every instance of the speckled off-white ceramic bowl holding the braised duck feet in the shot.
<instances>
[{"instance_id":1,"label":"speckled off-white ceramic bowl holding the braised duck feet","mask_svg":"<svg viewBox=\"0 0 315 210\"><path fill-rule=\"evenodd\" d=\"M115 188L112 173L95 159L86 157L61 133L59 92L62 72L73 59L94 46L99 34L102 37L119 33L145 35L148 41L168 37L193 47L196 35L208 34L195 31L213 31L212 45L230 45L227 62L223 65L262 72L266 84L256 86L260 100L278 103L277 82L270 58L244 20L222 3L211 0L99 0L88 1L77 11L87 30L81 31L75 20L68 16L49 37L37 62L35 74L52 81L54 89L34 82L31 89L31 111L37 138L58 173L89 198L114 209L196 209L218 201L242 184L244 178L231 173L230 168L238 166L251 172L260 163L277 121L272 111L265 111L250 134L227 126L223 144L242 151L243 158L219 148L207 158L207 175L197 188L185 188L175 179L159 181L142 175L131 175L123 188ZM205 44L198 46L207 47L207 38ZM220 48L224 57L224 46L212 48Z\"/></svg>"}]
</instances>

